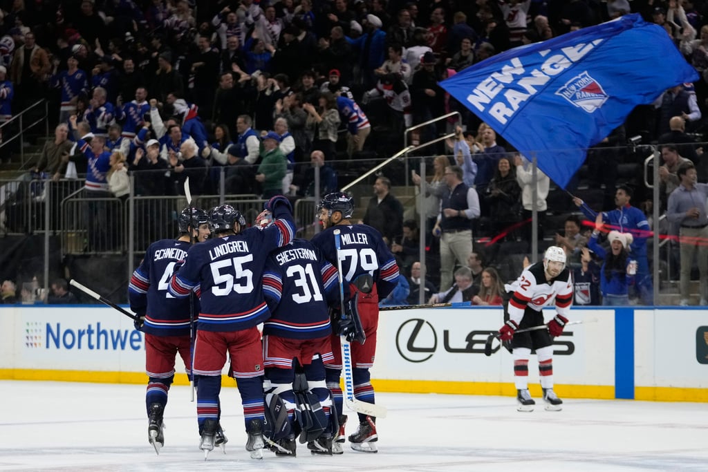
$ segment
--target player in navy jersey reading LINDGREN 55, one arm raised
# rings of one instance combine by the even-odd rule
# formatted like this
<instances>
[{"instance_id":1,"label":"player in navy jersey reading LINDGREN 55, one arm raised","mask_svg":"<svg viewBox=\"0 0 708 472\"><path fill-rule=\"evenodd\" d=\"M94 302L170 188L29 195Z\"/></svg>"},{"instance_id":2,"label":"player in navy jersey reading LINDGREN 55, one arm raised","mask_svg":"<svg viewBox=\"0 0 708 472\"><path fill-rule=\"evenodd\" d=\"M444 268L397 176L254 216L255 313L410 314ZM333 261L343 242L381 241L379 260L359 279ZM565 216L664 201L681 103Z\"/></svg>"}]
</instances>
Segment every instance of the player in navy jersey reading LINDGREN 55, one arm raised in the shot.
<instances>
[{"instance_id":1,"label":"player in navy jersey reading LINDGREN 55, one arm raised","mask_svg":"<svg viewBox=\"0 0 708 472\"><path fill-rule=\"evenodd\" d=\"M257 326L270 311L260 284L268 253L290 243L295 234L287 198L277 195L265 209L273 212L275 221L263 231L246 229L241 212L230 205L212 209L212 239L190 248L170 282L169 291L176 297L187 297L193 289L200 294L193 371L199 383L197 416L205 456L215 445L228 352L244 407L246 450L253 459L263 457L263 350Z\"/></svg>"}]
</instances>

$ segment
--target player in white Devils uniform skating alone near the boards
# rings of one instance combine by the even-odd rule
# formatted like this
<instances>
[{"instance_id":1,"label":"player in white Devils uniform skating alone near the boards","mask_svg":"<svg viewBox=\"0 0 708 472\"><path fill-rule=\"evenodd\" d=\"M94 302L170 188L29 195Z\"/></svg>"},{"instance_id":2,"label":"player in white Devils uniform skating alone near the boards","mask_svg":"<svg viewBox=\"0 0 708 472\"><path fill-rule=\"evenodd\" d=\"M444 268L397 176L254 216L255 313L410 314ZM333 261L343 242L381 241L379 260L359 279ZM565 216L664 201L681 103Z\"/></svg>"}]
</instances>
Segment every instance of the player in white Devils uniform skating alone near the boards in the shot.
<instances>
[{"instance_id":1,"label":"player in white Devils uniform skating alone near the boards","mask_svg":"<svg viewBox=\"0 0 708 472\"><path fill-rule=\"evenodd\" d=\"M541 377L543 399L547 410L560 410L561 401L553 391L553 340L561 335L568 323L568 313L573 303L573 279L566 268L566 253L559 246L551 246L543 261L532 264L521 272L511 285L513 295L509 301L508 320L499 333L503 342L511 343L514 357L514 381L518 391L519 411L532 411L535 401L528 391L528 364L531 350L536 350ZM548 329L515 333L517 329L544 324L544 307L554 306L556 316L549 321Z\"/></svg>"}]
</instances>

